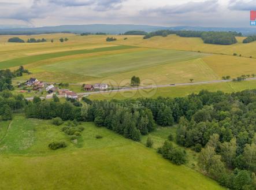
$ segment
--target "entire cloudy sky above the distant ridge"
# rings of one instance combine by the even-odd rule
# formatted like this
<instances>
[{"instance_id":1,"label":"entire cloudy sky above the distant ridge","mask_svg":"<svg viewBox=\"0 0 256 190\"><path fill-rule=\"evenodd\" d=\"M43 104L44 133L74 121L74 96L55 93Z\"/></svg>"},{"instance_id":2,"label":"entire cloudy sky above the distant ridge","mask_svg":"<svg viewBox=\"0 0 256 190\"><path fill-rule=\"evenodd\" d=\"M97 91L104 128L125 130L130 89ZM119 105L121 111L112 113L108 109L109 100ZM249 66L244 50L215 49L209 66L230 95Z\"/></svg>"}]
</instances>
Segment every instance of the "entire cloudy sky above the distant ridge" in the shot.
<instances>
[{"instance_id":1,"label":"entire cloudy sky above the distant ridge","mask_svg":"<svg viewBox=\"0 0 256 190\"><path fill-rule=\"evenodd\" d=\"M249 27L255 0L0 0L0 24Z\"/></svg>"}]
</instances>

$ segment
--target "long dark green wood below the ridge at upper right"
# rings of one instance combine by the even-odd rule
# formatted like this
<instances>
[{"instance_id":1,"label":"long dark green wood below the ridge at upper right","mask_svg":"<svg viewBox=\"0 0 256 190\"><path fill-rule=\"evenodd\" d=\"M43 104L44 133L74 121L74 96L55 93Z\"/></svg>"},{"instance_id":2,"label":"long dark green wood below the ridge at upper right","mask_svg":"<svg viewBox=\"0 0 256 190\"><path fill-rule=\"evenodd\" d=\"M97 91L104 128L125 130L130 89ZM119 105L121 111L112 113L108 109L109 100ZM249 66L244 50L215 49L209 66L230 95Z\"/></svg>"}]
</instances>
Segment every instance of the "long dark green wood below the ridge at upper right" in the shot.
<instances>
[{"instance_id":1,"label":"long dark green wood below the ridge at upper right","mask_svg":"<svg viewBox=\"0 0 256 190\"><path fill-rule=\"evenodd\" d=\"M237 43L236 36L242 36L242 33L238 32L200 32L200 31L170 31L170 30L161 30L151 33L147 33L144 36L144 39L151 38L153 36L163 36L166 37L170 34L176 34L180 37L185 38L202 38L203 43L209 44L221 44L221 45L230 45Z\"/></svg>"}]
</instances>

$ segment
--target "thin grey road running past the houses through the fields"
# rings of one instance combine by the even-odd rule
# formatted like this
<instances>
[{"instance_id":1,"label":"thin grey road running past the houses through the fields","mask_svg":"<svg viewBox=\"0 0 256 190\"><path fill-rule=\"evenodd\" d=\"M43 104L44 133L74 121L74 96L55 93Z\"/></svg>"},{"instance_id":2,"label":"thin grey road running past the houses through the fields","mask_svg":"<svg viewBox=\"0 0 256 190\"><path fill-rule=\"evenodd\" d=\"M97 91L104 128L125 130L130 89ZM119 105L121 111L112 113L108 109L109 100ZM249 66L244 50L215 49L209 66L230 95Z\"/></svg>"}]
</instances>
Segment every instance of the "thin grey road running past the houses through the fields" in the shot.
<instances>
[{"instance_id":1,"label":"thin grey road running past the houses through the fields","mask_svg":"<svg viewBox=\"0 0 256 190\"><path fill-rule=\"evenodd\" d=\"M250 80L256 80L256 77L254 78L248 78L245 79L246 81ZM186 86L186 85L200 85L200 84L214 84L214 83L228 83L231 82L232 80L212 80L212 81L201 81L201 82L195 82L195 83L177 83L177 84L163 84L163 85L148 85L144 87L132 87L132 88L120 88L116 90L106 90L106 91L97 91L97 92L81 92L77 93L78 96L87 96L91 94L103 94L107 92L121 92L121 91L132 91L132 90L146 90L146 89L153 89L153 88L164 88L164 87L179 87L179 86ZM59 95L59 98L65 97L65 95ZM32 100L33 97L26 98L27 100ZM44 97L40 97L44 99Z\"/></svg>"}]
</instances>

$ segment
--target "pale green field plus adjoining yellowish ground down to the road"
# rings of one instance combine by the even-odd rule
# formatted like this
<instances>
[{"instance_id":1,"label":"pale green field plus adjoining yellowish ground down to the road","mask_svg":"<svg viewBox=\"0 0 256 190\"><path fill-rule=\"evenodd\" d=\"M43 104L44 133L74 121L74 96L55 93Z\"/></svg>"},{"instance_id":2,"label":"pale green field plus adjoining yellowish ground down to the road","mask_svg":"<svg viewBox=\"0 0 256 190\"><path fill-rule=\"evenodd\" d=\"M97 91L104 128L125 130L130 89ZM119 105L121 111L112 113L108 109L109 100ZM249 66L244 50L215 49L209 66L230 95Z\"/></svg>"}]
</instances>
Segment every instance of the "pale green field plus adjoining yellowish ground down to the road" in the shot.
<instances>
[{"instance_id":1,"label":"pale green field plus adjoining yellowish ground down to the road","mask_svg":"<svg viewBox=\"0 0 256 190\"><path fill-rule=\"evenodd\" d=\"M154 79L157 84L185 82L191 77L201 81L217 79L218 76L212 69L202 59L198 59L205 55L185 51L131 48L51 58L34 62L27 67L33 73L32 77L53 82L109 83L109 80L114 80L120 84L124 79L131 79L134 74L142 80ZM200 74L201 72L203 74ZM25 80L27 77L19 79Z\"/></svg>"}]
</instances>

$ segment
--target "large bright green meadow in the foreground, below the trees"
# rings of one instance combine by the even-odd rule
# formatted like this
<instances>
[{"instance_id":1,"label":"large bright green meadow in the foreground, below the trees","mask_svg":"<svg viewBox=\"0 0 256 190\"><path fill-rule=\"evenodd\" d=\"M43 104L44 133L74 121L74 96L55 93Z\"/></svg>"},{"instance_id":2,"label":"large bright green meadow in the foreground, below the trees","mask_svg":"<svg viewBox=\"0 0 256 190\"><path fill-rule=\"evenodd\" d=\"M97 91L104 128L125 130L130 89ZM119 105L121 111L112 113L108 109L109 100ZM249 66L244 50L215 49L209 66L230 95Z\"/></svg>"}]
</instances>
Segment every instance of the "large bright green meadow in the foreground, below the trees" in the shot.
<instances>
[{"instance_id":1,"label":"large bright green meadow in the foreground, below the trees","mask_svg":"<svg viewBox=\"0 0 256 190\"><path fill-rule=\"evenodd\" d=\"M91 123L82 125L81 139L73 144L50 121L15 116L0 144L0 188L224 189L189 167L173 165L143 144ZM68 147L51 151L47 144L53 140L64 140Z\"/></svg>"}]
</instances>

